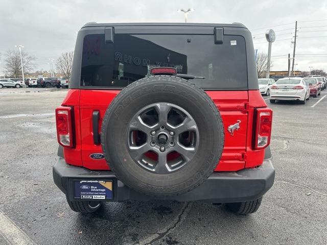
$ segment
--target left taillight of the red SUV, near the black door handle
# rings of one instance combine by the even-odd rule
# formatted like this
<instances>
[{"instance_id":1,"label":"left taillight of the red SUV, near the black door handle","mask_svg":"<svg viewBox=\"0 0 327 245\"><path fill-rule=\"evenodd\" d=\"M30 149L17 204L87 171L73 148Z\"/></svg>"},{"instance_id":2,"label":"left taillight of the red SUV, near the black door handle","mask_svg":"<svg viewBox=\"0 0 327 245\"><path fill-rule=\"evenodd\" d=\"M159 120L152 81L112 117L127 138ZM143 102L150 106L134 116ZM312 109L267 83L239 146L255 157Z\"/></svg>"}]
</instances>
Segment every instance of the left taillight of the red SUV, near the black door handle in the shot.
<instances>
[{"instance_id":1,"label":"left taillight of the red SUV, near the black door handle","mask_svg":"<svg viewBox=\"0 0 327 245\"><path fill-rule=\"evenodd\" d=\"M73 108L60 106L56 108L56 125L58 143L64 147L73 147Z\"/></svg>"}]
</instances>

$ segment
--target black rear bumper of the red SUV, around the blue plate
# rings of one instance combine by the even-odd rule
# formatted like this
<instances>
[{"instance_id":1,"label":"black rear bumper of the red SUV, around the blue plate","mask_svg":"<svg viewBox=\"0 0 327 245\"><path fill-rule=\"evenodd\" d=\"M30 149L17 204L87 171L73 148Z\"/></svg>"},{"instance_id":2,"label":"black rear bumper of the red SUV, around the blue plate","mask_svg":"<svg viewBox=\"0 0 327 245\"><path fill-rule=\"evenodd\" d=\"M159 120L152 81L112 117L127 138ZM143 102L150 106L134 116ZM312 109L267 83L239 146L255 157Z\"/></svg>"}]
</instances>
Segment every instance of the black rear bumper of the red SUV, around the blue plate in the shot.
<instances>
[{"instance_id":1,"label":"black rear bumper of the red SUV, around the blue plate","mask_svg":"<svg viewBox=\"0 0 327 245\"><path fill-rule=\"evenodd\" d=\"M258 168L213 173L197 188L173 197L152 197L137 192L119 181L111 171L94 171L68 165L62 157L59 157L53 167L53 178L55 184L70 201L81 201L74 199L74 180L112 180L113 198L109 200L111 202L125 200L176 200L179 202L206 200L213 203L232 203L252 201L262 197L274 183L275 170L271 159L265 159Z\"/></svg>"}]
</instances>

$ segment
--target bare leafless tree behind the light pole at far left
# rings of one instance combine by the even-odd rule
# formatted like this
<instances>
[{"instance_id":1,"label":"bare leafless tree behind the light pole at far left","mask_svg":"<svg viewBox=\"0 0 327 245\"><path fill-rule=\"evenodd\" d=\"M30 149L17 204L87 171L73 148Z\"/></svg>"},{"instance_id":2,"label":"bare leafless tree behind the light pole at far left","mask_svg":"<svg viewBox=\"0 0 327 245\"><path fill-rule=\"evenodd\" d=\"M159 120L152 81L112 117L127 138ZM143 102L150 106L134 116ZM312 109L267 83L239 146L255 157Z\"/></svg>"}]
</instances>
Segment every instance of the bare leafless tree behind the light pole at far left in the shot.
<instances>
[{"instance_id":1,"label":"bare leafless tree behind the light pole at far left","mask_svg":"<svg viewBox=\"0 0 327 245\"><path fill-rule=\"evenodd\" d=\"M34 68L35 56L21 51L22 67L24 71L29 72ZM8 50L4 55L5 72L10 77L21 76L21 63L18 50Z\"/></svg>"}]
</instances>

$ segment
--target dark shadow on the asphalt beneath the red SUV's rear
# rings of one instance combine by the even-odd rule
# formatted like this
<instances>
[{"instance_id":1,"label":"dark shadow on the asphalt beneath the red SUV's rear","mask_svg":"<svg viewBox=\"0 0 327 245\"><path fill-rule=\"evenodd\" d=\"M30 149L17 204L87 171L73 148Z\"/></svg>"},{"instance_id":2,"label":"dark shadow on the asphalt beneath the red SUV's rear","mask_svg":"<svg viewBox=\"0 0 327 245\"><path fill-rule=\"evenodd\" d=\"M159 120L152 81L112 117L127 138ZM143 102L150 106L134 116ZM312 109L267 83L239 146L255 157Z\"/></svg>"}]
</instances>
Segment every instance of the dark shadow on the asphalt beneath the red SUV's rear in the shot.
<instances>
[{"instance_id":1,"label":"dark shadow on the asphalt beneath the red SUV's rear","mask_svg":"<svg viewBox=\"0 0 327 245\"><path fill-rule=\"evenodd\" d=\"M126 201L106 203L94 214L72 215L76 215L73 218L75 225L70 230L75 237L67 237L67 243L80 239L91 242L96 237L98 244L108 241L110 244L147 244L154 241L184 244L206 236L207 232L211 236L219 234L220 238L229 239L235 235L235 230L242 230L245 224L251 227L248 223L253 222L251 215L236 215L227 211L224 205L202 202ZM82 234L79 234L80 231L83 231Z\"/></svg>"}]
</instances>

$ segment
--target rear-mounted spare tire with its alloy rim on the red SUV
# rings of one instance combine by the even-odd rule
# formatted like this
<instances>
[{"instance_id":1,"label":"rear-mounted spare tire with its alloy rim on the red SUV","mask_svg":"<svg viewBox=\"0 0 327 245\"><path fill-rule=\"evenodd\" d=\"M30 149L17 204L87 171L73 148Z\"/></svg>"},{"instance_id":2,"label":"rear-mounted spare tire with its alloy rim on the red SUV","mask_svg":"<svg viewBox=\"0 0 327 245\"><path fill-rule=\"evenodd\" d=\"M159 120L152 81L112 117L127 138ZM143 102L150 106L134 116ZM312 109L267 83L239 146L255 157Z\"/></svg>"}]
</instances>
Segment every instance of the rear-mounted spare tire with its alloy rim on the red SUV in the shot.
<instances>
[{"instance_id":1,"label":"rear-mounted spare tire with its alloy rim on the red SUV","mask_svg":"<svg viewBox=\"0 0 327 245\"><path fill-rule=\"evenodd\" d=\"M125 87L102 123L104 156L127 186L155 196L188 192L212 173L224 129L211 98L173 76L152 76Z\"/></svg>"}]
</instances>

